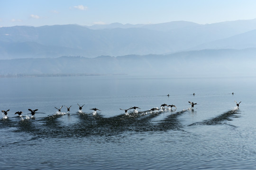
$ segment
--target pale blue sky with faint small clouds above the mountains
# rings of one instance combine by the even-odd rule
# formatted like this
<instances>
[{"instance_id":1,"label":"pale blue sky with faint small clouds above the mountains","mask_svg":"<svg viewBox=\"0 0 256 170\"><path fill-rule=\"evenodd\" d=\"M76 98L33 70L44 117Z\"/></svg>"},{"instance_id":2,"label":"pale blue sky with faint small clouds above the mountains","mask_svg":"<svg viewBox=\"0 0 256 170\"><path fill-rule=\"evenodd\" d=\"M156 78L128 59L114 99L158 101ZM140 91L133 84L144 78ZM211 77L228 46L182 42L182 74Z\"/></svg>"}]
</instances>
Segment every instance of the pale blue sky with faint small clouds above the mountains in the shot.
<instances>
[{"instance_id":1,"label":"pale blue sky with faint small clouds above the mountains","mask_svg":"<svg viewBox=\"0 0 256 170\"><path fill-rule=\"evenodd\" d=\"M0 0L0 27L78 24L210 24L256 18L256 0Z\"/></svg>"}]
</instances>

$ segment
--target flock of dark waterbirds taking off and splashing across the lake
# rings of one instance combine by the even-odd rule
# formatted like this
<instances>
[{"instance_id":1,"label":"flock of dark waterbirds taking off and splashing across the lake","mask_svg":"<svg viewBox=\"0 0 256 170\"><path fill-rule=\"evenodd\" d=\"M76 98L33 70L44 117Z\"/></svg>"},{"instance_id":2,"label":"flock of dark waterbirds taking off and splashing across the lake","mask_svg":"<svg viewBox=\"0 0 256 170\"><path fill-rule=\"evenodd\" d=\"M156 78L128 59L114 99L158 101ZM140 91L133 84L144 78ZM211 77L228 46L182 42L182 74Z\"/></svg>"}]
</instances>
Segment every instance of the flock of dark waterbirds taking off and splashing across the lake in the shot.
<instances>
[{"instance_id":1,"label":"flock of dark waterbirds taking off and splashing across the lake","mask_svg":"<svg viewBox=\"0 0 256 170\"><path fill-rule=\"evenodd\" d=\"M232 93L232 94L234 94L234 93ZM193 93L193 95L195 95L195 93ZM167 96L169 97L169 94L168 94ZM236 101L235 101L235 102L236 102ZM193 109L193 108L194 108L194 105L197 104L197 103L194 103L194 102L189 102L189 103L191 104L191 109ZM239 104L240 104L240 103L241 103L241 102L236 102L236 104L237 104L238 107L239 107ZM77 105L79 106L79 112L81 113L81 112L82 112L82 107L84 106L84 104L83 104L82 106L80 106L80 105L77 103ZM166 106L166 107L170 107L170 110L172 110L173 107L175 108L175 110L177 109L177 107L176 107L175 105L173 105L173 104L167 105L167 104L165 104L165 103L161 105L160 109L165 110L165 106ZM70 112L71 106L69 106L69 107L65 106L65 107L67 108L67 111ZM61 109L62 109L62 108L63 108L63 106L61 106L60 108L56 108L56 107L55 107L55 109L57 109L59 112L61 112ZM140 108L134 106L134 107L130 107L129 109L120 109L120 110L124 110L124 111L125 111L125 114L127 115L127 114L128 114L128 110L131 110L131 109L133 109L134 112L137 113L137 112L138 112L137 109L140 109ZM154 111L160 110L160 109L158 109L158 108L156 107L156 108L150 109L149 111L154 112ZM31 115L32 115L31 117L34 117L35 113L41 113L41 112L36 112L38 109L36 109L36 110L28 109L28 110L31 112ZM90 110L94 110L93 115L95 115L95 114L97 113L97 110L99 110L99 109L97 109L97 108L92 108L92 109L90 109ZM3 115L6 116L6 118L7 118L8 111L9 111L9 110L2 110L2 113L3 113ZM101 111L101 110L99 110L99 111ZM21 114L22 114L22 113L23 113L22 111L17 111L17 112L15 112L15 114L18 114L18 116L20 116L20 117L21 117Z\"/></svg>"}]
</instances>

